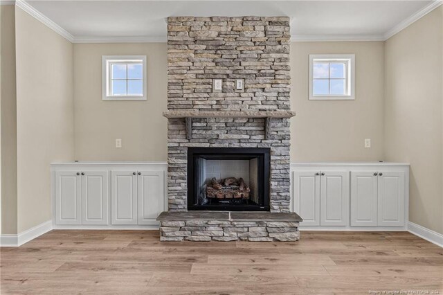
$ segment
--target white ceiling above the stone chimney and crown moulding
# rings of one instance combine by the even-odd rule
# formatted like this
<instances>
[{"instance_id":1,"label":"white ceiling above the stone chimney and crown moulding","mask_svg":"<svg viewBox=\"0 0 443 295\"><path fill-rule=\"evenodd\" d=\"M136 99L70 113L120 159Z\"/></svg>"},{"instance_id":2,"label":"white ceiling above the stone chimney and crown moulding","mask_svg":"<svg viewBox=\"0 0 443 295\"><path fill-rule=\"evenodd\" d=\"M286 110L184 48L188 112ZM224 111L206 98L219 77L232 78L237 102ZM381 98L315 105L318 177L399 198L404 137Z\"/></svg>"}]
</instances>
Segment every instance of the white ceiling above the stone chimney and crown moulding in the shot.
<instances>
[{"instance_id":1,"label":"white ceiling above the stone chimney and crown moulding","mask_svg":"<svg viewBox=\"0 0 443 295\"><path fill-rule=\"evenodd\" d=\"M284 15L292 18L293 39L386 39L396 26L435 4L428 0L27 2L78 42L115 37L164 41L165 18L185 15Z\"/></svg>"}]
</instances>

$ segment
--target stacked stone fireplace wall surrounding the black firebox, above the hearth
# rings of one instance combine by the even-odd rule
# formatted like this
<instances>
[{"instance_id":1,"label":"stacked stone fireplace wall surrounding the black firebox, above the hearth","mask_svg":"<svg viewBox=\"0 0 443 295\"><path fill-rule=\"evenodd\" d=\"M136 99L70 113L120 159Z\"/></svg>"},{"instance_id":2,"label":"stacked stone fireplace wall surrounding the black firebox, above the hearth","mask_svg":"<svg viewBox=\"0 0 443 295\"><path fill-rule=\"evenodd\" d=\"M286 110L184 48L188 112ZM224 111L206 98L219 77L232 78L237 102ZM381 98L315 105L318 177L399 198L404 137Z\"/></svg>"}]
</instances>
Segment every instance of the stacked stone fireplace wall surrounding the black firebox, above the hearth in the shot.
<instances>
[{"instance_id":1,"label":"stacked stone fireplace wall surrounding the black firebox, above the hearth","mask_svg":"<svg viewBox=\"0 0 443 295\"><path fill-rule=\"evenodd\" d=\"M271 211L289 212L289 119L271 118L265 139L264 118L236 118L290 108L289 38L288 17L168 18L168 109L228 115L194 118L192 139L185 118L168 120L170 211L187 210L188 147L269 147ZM213 92L215 78L221 92Z\"/></svg>"}]
</instances>

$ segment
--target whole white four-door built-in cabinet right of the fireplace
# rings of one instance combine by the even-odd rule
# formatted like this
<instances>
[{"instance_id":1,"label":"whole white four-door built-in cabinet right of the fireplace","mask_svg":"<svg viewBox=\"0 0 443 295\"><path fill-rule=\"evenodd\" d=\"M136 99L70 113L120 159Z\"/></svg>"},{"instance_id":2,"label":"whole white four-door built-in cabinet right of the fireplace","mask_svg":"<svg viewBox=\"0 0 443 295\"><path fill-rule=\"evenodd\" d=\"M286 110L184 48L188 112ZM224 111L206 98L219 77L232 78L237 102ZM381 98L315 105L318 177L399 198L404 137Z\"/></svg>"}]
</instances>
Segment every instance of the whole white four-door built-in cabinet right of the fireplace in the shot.
<instances>
[{"instance_id":1,"label":"whole white four-door built-in cabinet right of the fireplace","mask_svg":"<svg viewBox=\"0 0 443 295\"><path fill-rule=\"evenodd\" d=\"M293 211L313 229L405 229L408 179L408 164L292 164Z\"/></svg>"}]
</instances>

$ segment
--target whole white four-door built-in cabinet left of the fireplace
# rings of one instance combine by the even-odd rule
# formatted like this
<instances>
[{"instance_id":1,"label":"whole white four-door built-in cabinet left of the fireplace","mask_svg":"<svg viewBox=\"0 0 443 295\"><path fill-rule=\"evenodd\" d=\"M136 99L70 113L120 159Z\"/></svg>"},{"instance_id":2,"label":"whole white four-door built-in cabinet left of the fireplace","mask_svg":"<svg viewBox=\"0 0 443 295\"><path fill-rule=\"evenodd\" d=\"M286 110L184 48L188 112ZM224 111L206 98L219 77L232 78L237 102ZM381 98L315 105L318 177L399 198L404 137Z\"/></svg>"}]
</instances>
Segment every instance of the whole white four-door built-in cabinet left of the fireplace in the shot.
<instances>
[{"instance_id":1,"label":"whole white four-door built-in cabinet left of the fireplace","mask_svg":"<svg viewBox=\"0 0 443 295\"><path fill-rule=\"evenodd\" d=\"M55 226L156 225L167 208L166 163L62 163L51 171Z\"/></svg>"}]
</instances>

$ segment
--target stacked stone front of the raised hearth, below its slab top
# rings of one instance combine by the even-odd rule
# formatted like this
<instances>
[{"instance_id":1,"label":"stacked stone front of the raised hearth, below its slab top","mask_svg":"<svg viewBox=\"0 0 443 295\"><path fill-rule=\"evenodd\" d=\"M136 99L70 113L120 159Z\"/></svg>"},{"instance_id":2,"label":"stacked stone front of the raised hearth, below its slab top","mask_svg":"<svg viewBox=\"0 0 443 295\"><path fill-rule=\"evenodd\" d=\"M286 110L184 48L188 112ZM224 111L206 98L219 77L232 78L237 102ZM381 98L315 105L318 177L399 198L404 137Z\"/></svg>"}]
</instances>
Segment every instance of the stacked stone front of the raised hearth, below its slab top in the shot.
<instances>
[{"instance_id":1,"label":"stacked stone front of the raised hearth, below its slab top","mask_svg":"<svg viewBox=\"0 0 443 295\"><path fill-rule=\"evenodd\" d=\"M162 221L161 241L297 241L298 222Z\"/></svg>"}]
</instances>

